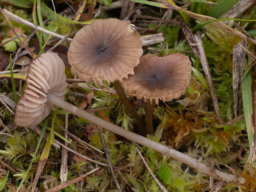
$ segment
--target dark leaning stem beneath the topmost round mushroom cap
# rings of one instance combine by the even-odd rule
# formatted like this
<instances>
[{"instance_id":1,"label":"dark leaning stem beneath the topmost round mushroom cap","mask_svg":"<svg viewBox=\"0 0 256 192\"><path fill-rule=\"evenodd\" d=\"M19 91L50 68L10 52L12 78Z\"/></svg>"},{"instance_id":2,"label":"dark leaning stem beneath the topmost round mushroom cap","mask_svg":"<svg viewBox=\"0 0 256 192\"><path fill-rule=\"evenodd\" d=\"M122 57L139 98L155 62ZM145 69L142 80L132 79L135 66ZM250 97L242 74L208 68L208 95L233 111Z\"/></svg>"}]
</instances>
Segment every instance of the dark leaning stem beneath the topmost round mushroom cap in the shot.
<instances>
[{"instance_id":1,"label":"dark leaning stem beneath the topmost round mushroom cap","mask_svg":"<svg viewBox=\"0 0 256 192\"><path fill-rule=\"evenodd\" d=\"M112 84L115 87L116 93L118 94L120 100L122 101L122 103L124 104L124 107L126 108L126 110L135 118L136 122L135 122L135 132L137 132L138 134L146 137L146 132L145 130L145 125L142 123L141 118L139 117L137 111L135 110L135 108L132 106L130 100L127 98L124 89L122 87L122 85L119 83L119 81L114 81L112 82Z\"/></svg>"}]
</instances>

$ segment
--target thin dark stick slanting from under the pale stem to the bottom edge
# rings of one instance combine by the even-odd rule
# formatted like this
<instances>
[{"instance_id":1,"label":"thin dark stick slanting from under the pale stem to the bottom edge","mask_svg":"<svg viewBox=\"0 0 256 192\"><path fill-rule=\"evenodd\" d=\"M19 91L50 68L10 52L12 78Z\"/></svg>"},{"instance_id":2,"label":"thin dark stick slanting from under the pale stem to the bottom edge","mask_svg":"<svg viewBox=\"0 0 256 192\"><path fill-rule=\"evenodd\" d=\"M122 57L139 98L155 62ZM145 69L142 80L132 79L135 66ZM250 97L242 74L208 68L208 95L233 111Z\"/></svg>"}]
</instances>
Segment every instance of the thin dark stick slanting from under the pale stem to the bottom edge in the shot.
<instances>
[{"instance_id":1,"label":"thin dark stick slanting from under the pale stem to the bottom edge","mask_svg":"<svg viewBox=\"0 0 256 192\"><path fill-rule=\"evenodd\" d=\"M92 106L91 106L91 108L92 108ZM93 114L94 116L96 116L94 112L92 112L92 114ZM118 183L118 180L116 179L116 175L115 175L115 172L114 172L114 169L113 169L113 165L112 165L111 160L110 160L110 156L109 156L109 154L108 154L108 148L107 148L106 142L105 142L105 140L104 140L104 136L103 136L103 134L102 134L102 131L101 131L101 128L100 128L99 125L97 125L97 128L98 128L98 132L99 132L99 135L100 135L101 144L102 144L102 146L103 146L103 149L104 149L104 151L105 151L105 155L106 155L107 160L108 160L108 165L109 165L110 172L111 172L112 177L113 177L113 179L114 179L114 181L115 181L115 184L116 184L116 187L117 187L118 191L121 192L122 190L121 190L121 188L120 188L120 185L119 185L119 183Z\"/></svg>"}]
</instances>

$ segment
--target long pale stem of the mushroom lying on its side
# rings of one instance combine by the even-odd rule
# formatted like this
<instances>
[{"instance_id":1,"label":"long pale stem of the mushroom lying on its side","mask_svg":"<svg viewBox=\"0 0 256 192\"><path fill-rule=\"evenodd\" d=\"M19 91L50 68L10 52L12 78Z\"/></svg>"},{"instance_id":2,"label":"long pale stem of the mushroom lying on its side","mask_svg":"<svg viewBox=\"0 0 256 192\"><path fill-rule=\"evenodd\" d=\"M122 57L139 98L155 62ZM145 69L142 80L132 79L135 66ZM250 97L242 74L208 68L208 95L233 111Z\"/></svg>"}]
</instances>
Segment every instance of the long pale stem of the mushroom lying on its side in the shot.
<instances>
[{"instance_id":1,"label":"long pale stem of the mushroom lying on its side","mask_svg":"<svg viewBox=\"0 0 256 192\"><path fill-rule=\"evenodd\" d=\"M147 139L141 135L138 135L136 133L130 132L126 129L123 129L115 124L109 123L97 116L94 116L64 100L61 100L58 96L54 95L51 91L49 91L47 94L47 102L56 105L59 108L62 108L76 116L79 116L81 118L84 118L96 125L99 125L100 127L107 129L108 131L114 132L118 135L121 135L129 140L135 141L141 145L144 145L145 147L151 148L159 153L162 153L164 155L170 156L172 158L175 158L184 164L187 164L194 169L196 169L198 172L204 173L206 175L209 175L213 178L228 181L228 182L235 182L243 184L245 182L245 179L240 177L239 175L232 175L228 174L226 172L221 172L217 169L214 169L208 165L205 165L195 159L193 159L190 156L187 156L179 151L176 151L175 149L169 148L167 146L164 146L160 143L157 143L153 140Z\"/></svg>"}]
</instances>

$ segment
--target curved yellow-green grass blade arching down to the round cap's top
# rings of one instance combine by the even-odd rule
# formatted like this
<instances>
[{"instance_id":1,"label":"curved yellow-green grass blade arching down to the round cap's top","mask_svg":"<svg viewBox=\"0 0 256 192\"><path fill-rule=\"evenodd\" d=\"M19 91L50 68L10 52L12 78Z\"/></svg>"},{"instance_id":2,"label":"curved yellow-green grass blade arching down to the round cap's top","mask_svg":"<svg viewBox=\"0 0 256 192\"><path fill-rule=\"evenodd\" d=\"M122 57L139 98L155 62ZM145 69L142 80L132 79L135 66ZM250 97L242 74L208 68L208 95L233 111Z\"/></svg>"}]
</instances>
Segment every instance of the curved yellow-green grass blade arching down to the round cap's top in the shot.
<instances>
[{"instance_id":1,"label":"curved yellow-green grass blade arching down to the round cap's top","mask_svg":"<svg viewBox=\"0 0 256 192\"><path fill-rule=\"evenodd\" d=\"M47 7L46 4L44 4L44 3L41 3L41 13L47 18L49 18L51 20L55 20L55 12L52 11L49 7ZM61 17L59 14L57 14L56 21L59 22L59 23L65 23L65 24L73 24L73 23L75 23L75 24L90 24L95 20L77 22L77 21L73 21L73 20L70 20L70 19L66 19L64 17Z\"/></svg>"}]
</instances>

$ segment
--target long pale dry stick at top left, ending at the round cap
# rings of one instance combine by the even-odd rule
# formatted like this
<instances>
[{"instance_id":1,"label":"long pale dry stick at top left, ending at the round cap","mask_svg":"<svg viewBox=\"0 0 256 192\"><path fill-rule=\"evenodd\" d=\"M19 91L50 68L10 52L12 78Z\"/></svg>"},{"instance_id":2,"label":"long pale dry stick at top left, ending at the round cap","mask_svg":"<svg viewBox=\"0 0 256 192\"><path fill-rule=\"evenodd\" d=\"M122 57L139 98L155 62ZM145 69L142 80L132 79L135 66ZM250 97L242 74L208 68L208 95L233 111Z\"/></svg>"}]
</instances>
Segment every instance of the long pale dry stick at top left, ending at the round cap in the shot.
<instances>
[{"instance_id":1,"label":"long pale dry stick at top left, ending at the round cap","mask_svg":"<svg viewBox=\"0 0 256 192\"><path fill-rule=\"evenodd\" d=\"M31 23L31 22L29 22L29 21L27 21L27 20L25 20L25 19L22 19L22 18L20 18L20 17L17 16L17 15L14 15L13 13L7 11L6 9L4 9L4 13L5 13L5 14L7 15L7 17L10 18L11 20L14 20L14 21L16 21L17 23L20 23L20 24L22 24L22 25L25 25L25 26L27 26L27 27L29 27L29 28L35 29L36 31L39 31L39 32L43 31L43 33L45 33L45 34L48 34L48 35L52 34L52 36L58 37L58 38L60 38L60 39L63 39L63 38L64 38L64 36L59 35L59 34L57 34L57 33L53 33L52 31L48 31L48 30L46 30L46 29L44 29L44 28L41 28L41 27L39 27L39 26L36 26L35 24L33 24L33 23ZM67 38L67 40L68 40L68 41L71 41L72 39L71 39L71 38Z\"/></svg>"}]
</instances>

